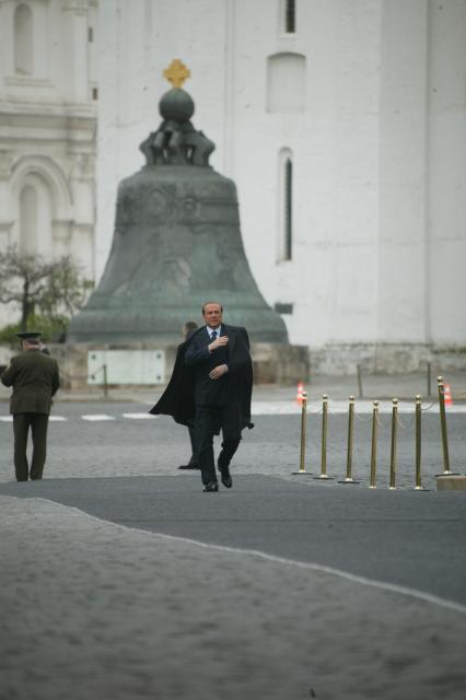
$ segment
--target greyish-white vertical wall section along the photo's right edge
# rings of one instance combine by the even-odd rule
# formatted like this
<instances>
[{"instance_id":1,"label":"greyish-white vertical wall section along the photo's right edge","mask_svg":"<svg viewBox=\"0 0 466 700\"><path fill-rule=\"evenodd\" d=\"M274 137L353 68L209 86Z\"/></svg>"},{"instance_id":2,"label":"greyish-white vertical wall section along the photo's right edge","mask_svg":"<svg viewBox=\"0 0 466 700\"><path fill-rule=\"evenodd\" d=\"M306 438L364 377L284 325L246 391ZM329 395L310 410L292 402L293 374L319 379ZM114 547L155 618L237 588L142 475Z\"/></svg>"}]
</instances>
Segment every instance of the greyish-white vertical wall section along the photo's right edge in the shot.
<instances>
[{"instance_id":1,"label":"greyish-white vertical wall section along the photo's right edge","mask_svg":"<svg viewBox=\"0 0 466 700\"><path fill-rule=\"evenodd\" d=\"M466 2L430 3L430 339L466 346Z\"/></svg>"}]
</instances>

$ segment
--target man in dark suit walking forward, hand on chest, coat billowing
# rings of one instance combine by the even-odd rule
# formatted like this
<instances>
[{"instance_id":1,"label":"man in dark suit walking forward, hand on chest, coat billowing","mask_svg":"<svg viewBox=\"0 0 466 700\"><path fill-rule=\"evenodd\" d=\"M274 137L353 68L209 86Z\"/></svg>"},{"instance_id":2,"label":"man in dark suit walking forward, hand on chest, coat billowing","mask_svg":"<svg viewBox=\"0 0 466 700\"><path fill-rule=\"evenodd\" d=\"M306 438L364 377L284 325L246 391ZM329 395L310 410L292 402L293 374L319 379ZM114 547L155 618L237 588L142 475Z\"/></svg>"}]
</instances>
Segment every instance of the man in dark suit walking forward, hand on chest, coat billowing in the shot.
<instances>
[{"instance_id":1,"label":"man in dark suit walking forward, hand on chest, coat billowing","mask_svg":"<svg viewBox=\"0 0 466 700\"><path fill-rule=\"evenodd\" d=\"M196 453L203 491L219 485L213 456L213 435L222 431L218 467L222 483L232 487L230 463L251 422L253 363L245 328L222 323L217 302L202 306L206 326L196 330L178 352L172 378L151 413L165 413L185 425L194 418Z\"/></svg>"}]
</instances>

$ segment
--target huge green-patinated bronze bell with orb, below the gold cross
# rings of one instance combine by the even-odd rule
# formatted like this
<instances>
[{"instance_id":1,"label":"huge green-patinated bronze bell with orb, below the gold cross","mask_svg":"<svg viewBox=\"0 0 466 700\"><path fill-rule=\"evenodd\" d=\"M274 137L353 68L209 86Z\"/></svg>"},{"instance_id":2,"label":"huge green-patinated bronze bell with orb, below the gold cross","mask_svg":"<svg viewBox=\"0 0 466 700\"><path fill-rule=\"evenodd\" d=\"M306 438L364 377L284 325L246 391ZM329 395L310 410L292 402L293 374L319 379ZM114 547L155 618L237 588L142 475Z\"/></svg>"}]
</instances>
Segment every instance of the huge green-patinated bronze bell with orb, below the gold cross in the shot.
<instances>
[{"instance_id":1,"label":"huge green-patinated bronze bell with orb, below the gold cross","mask_svg":"<svg viewBox=\"0 0 466 700\"><path fill-rule=\"evenodd\" d=\"M176 86L159 108L163 121L140 145L147 164L118 187L104 275L67 342L179 342L209 300L253 340L288 342L246 260L236 187L209 165L214 144L190 122L191 97Z\"/></svg>"}]
</instances>

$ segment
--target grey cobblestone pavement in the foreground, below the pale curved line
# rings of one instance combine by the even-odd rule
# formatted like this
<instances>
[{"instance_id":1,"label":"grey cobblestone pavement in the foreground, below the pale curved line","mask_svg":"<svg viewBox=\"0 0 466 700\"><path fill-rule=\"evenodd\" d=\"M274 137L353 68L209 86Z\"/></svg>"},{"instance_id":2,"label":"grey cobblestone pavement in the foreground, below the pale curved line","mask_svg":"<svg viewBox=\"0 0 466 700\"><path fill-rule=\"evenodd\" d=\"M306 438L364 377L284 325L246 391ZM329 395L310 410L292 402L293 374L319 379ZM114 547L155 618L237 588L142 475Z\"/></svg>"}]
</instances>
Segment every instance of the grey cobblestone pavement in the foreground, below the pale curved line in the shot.
<instances>
[{"instance_id":1,"label":"grey cobblestone pavement in the foreground, below the pale curved line","mask_svg":"<svg viewBox=\"0 0 466 700\"><path fill-rule=\"evenodd\" d=\"M463 700L465 615L0 497L1 700Z\"/></svg>"}]
</instances>

